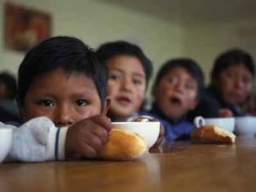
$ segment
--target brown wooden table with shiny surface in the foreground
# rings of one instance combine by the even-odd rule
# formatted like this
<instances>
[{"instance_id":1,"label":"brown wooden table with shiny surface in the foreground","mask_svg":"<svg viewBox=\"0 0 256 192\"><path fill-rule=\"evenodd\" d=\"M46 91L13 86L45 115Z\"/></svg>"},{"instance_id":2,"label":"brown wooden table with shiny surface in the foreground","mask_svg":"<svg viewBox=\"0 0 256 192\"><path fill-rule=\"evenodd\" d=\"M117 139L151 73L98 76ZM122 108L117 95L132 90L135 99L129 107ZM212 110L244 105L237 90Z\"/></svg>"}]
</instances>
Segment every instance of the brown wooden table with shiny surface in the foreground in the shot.
<instances>
[{"instance_id":1,"label":"brown wooden table with shiny surface in the foreground","mask_svg":"<svg viewBox=\"0 0 256 192\"><path fill-rule=\"evenodd\" d=\"M177 141L134 161L0 164L0 191L255 191L256 138Z\"/></svg>"}]
</instances>

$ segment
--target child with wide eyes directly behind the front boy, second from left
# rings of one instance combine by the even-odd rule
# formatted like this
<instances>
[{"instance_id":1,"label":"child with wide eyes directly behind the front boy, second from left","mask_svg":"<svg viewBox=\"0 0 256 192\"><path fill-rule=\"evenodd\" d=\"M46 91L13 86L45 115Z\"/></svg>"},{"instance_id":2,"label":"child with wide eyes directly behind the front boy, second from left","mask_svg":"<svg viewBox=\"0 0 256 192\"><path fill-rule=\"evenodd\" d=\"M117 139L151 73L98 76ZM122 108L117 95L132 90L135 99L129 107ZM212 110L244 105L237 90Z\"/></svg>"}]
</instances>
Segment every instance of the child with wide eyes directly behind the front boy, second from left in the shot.
<instances>
[{"instance_id":1,"label":"child with wide eyes directly behind the front boy, second from left","mask_svg":"<svg viewBox=\"0 0 256 192\"><path fill-rule=\"evenodd\" d=\"M152 64L138 45L125 41L100 45L97 54L109 70L108 96L111 99L108 114L113 122L125 122L140 116L140 108L152 76ZM151 120L154 121L154 120ZM156 145L163 139L164 129Z\"/></svg>"}]
</instances>

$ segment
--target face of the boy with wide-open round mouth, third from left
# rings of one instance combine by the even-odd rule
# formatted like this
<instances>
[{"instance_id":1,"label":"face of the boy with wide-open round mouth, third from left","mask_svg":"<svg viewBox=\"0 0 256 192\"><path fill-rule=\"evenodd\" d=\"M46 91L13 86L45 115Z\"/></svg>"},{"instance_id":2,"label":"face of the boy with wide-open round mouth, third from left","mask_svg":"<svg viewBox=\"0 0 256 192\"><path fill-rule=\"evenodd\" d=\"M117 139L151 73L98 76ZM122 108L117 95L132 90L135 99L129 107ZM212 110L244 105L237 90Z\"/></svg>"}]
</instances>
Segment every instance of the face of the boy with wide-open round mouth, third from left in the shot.
<instances>
[{"instance_id":1,"label":"face of the boy with wide-open round mouth, third from left","mask_svg":"<svg viewBox=\"0 0 256 192\"><path fill-rule=\"evenodd\" d=\"M184 68L174 67L153 87L152 95L157 107L166 117L180 118L195 108L197 90L196 79Z\"/></svg>"}]
</instances>

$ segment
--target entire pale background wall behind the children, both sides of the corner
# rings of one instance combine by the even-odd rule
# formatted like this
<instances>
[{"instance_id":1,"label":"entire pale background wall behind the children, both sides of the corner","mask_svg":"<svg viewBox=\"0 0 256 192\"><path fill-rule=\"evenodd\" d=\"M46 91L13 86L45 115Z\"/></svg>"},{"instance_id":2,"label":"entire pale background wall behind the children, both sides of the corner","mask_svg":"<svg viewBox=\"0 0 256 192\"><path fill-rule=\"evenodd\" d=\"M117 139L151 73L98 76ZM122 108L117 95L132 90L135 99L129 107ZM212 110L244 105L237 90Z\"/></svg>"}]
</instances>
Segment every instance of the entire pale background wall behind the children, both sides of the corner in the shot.
<instances>
[{"instance_id":1,"label":"entire pale background wall behind the children, both sides of the corner","mask_svg":"<svg viewBox=\"0 0 256 192\"><path fill-rule=\"evenodd\" d=\"M6 2L7 0L0 0L0 71L8 70L17 74L24 52L4 49L4 3ZM12 0L10 2L50 13L52 36L76 36L94 49L112 40L122 39L136 43L154 63L155 74L164 61L174 57L189 56L202 66L208 83L212 62L220 52L231 47L242 47L253 54L254 51L256 52L256 36L250 33L256 31L253 27L256 26L256 19L233 23L176 24L102 1ZM243 42L240 40L241 30L248 32L250 40L243 39ZM147 97L150 97L149 93Z\"/></svg>"}]
</instances>

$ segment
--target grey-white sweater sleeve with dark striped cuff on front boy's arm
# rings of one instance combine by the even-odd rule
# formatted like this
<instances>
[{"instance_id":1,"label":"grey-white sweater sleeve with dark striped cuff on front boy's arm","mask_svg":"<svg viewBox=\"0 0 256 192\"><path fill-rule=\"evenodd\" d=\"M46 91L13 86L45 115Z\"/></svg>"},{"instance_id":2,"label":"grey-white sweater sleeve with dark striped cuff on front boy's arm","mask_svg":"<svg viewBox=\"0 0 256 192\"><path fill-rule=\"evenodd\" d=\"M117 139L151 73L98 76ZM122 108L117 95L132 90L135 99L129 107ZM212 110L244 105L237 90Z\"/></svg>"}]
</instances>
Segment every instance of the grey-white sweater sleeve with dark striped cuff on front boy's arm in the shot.
<instances>
[{"instance_id":1,"label":"grey-white sweater sleeve with dark striped cuff on front boy's arm","mask_svg":"<svg viewBox=\"0 0 256 192\"><path fill-rule=\"evenodd\" d=\"M12 147L5 162L42 162L65 160L67 127L56 128L47 117L37 117L13 129Z\"/></svg>"}]
</instances>

